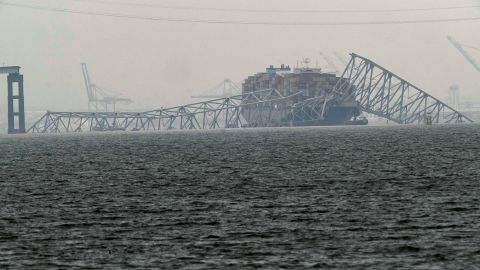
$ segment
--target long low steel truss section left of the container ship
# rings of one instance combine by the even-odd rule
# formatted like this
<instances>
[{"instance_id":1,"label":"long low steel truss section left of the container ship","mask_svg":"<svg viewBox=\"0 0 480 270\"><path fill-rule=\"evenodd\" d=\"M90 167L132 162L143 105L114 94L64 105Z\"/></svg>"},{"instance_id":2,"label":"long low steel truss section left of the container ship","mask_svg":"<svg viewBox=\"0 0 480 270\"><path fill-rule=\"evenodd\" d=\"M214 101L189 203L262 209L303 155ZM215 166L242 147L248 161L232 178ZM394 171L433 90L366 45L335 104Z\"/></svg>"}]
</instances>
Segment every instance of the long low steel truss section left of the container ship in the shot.
<instances>
[{"instance_id":1,"label":"long low steel truss section left of the container ship","mask_svg":"<svg viewBox=\"0 0 480 270\"><path fill-rule=\"evenodd\" d=\"M268 89L142 113L128 112L47 112L29 130L31 133L82 131L154 131L172 129L215 129L270 126L271 111L278 104L300 95L284 96ZM262 113L245 114L252 107ZM247 118L245 117L247 116Z\"/></svg>"}]
</instances>

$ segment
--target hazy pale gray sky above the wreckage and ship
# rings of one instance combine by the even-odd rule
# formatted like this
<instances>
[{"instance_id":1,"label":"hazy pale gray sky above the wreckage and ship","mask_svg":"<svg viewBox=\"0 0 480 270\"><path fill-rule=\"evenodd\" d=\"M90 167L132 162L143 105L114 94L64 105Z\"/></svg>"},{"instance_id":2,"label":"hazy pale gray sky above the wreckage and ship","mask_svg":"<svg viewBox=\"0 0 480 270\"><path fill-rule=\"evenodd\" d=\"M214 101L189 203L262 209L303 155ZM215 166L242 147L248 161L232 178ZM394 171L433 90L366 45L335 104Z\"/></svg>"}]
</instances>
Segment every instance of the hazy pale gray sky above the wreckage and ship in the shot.
<instances>
[{"instance_id":1,"label":"hazy pale gray sky above the wreckage and ship","mask_svg":"<svg viewBox=\"0 0 480 270\"><path fill-rule=\"evenodd\" d=\"M109 1L109 0L105 0ZM348 10L450 7L473 0L122 0L185 7ZM134 7L88 0L5 0L82 11L201 20L348 22L480 17L479 8L388 13L259 13ZM448 43L452 35L480 47L480 21L402 25L272 26L146 21L0 5L0 64L20 65L27 110L84 111L80 63L98 85L135 103L124 110L191 102L189 96L224 78L241 81L267 65L319 59L319 52L356 52L445 99L452 83L480 103L480 74ZM477 54L480 60L480 53ZM0 110L6 101L0 83ZM5 118L2 116L2 118Z\"/></svg>"}]
</instances>

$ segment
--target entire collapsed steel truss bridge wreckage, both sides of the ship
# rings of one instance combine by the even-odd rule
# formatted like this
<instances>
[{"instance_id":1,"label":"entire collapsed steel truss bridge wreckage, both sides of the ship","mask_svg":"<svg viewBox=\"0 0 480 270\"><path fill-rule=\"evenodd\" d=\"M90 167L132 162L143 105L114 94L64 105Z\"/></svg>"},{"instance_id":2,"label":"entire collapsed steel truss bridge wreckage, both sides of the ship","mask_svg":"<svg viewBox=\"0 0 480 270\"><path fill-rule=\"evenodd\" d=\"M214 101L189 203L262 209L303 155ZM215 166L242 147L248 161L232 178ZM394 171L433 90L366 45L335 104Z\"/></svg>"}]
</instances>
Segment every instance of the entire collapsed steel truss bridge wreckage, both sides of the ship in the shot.
<instances>
[{"instance_id":1,"label":"entire collapsed steel truss bridge wreckage, both sides of the ship","mask_svg":"<svg viewBox=\"0 0 480 270\"><path fill-rule=\"evenodd\" d=\"M81 131L157 131L308 125L325 118L329 109L355 97L360 110L398 124L472 122L462 113L405 81L375 62L351 54L335 87L325 94L293 103L297 92L276 89L243 93L184 106L153 111L47 112L31 133ZM292 102L290 102L292 103ZM278 121L278 114L281 114ZM276 115L277 117L272 117Z\"/></svg>"}]
</instances>

